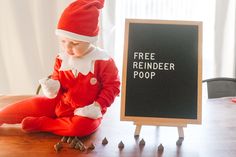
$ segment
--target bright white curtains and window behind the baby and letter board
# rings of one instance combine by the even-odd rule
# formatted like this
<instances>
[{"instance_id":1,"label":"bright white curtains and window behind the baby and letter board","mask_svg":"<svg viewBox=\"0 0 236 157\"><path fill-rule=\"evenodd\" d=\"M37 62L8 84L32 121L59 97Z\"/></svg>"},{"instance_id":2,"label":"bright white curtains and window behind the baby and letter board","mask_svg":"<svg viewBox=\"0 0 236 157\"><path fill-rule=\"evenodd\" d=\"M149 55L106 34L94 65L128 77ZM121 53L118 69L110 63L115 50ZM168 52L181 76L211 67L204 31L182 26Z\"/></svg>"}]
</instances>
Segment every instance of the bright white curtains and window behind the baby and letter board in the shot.
<instances>
[{"instance_id":1,"label":"bright white curtains and window behind the baby and letter board","mask_svg":"<svg viewBox=\"0 0 236 157\"><path fill-rule=\"evenodd\" d=\"M0 95L34 94L60 52L55 35L73 0L0 0ZM105 0L96 43L122 76L126 18L203 22L203 79L236 77L235 0Z\"/></svg>"}]
</instances>

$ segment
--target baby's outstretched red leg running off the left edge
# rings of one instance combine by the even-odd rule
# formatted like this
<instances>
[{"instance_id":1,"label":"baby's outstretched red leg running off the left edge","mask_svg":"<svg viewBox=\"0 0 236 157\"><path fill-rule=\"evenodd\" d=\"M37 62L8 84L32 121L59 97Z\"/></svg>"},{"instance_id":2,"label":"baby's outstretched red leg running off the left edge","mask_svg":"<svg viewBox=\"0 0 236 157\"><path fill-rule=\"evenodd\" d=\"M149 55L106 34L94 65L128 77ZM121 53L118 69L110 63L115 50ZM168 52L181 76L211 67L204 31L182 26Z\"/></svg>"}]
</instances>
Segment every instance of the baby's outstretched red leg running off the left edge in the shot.
<instances>
[{"instance_id":1,"label":"baby's outstretched red leg running off the left edge","mask_svg":"<svg viewBox=\"0 0 236 157\"><path fill-rule=\"evenodd\" d=\"M0 124L17 124L28 116L33 117L55 117L55 99L46 97L32 97L20 102L10 104L0 109Z\"/></svg>"}]
</instances>

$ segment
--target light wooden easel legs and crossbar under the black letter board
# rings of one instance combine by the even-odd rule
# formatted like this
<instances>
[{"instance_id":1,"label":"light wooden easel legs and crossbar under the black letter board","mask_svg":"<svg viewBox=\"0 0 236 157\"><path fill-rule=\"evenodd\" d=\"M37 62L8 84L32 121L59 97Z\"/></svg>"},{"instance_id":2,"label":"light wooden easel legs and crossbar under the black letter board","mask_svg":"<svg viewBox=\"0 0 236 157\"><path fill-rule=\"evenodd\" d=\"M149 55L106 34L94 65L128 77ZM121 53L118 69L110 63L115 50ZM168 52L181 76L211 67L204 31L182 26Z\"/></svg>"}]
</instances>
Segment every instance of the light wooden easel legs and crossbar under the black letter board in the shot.
<instances>
[{"instance_id":1,"label":"light wooden easel legs and crossbar under the black letter board","mask_svg":"<svg viewBox=\"0 0 236 157\"><path fill-rule=\"evenodd\" d=\"M138 137L140 135L141 132L141 128L142 125L155 125L155 126L172 126L172 127L177 127L178 130L178 135L179 138L176 141L176 145L180 146L184 140L184 127L187 127L187 125L176 125L176 124L161 124L161 125L156 125L155 123L140 123L140 122L134 122L134 125L136 125L135 127L135 132L134 132L134 136Z\"/></svg>"}]
</instances>

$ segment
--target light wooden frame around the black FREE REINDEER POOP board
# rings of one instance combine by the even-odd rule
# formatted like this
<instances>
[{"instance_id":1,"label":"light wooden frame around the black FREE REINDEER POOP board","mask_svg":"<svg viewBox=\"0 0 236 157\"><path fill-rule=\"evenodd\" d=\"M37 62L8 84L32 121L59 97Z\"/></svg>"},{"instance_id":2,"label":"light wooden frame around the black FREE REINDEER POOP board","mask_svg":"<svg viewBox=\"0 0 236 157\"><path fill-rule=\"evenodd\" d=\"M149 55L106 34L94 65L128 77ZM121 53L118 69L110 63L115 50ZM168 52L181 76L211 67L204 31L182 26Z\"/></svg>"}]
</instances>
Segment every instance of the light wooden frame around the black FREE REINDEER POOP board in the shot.
<instances>
[{"instance_id":1,"label":"light wooden frame around the black FREE REINDEER POOP board","mask_svg":"<svg viewBox=\"0 0 236 157\"><path fill-rule=\"evenodd\" d=\"M180 119L180 118L158 118L158 117L137 117L125 115L126 102L126 79L127 79L127 59L128 59L128 39L129 24L173 24L173 25L195 25L198 26L198 91L197 91L197 119ZM122 94L121 94L121 120L133 121L135 125L162 125L162 126L182 126L187 124L201 124L202 122L202 22L198 21L169 21L169 20L143 20L143 19L126 19L125 21L125 41L123 56L123 76L122 76Z\"/></svg>"}]
</instances>

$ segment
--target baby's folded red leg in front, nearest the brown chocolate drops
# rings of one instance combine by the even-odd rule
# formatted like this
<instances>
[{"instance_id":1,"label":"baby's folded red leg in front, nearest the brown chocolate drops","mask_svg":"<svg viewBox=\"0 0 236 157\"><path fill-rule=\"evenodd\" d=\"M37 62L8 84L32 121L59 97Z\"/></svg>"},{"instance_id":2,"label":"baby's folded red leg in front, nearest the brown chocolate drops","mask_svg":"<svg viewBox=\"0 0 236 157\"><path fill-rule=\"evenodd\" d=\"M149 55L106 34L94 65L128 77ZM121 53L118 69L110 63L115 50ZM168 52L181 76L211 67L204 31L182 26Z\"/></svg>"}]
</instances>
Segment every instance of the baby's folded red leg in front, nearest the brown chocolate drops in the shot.
<instances>
[{"instance_id":1,"label":"baby's folded red leg in front, nearest the brown chocolate drops","mask_svg":"<svg viewBox=\"0 0 236 157\"><path fill-rule=\"evenodd\" d=\"M62 136L87 136L97 130L101 118L90 119L73 116L62 118L27 117L22 121L22 128L26 132L46 131Z\"/></svg>"}]
</instances>

